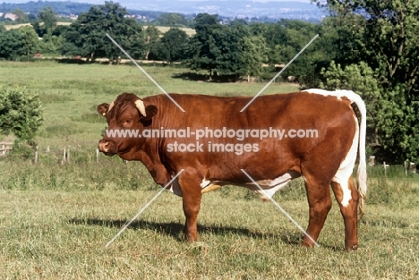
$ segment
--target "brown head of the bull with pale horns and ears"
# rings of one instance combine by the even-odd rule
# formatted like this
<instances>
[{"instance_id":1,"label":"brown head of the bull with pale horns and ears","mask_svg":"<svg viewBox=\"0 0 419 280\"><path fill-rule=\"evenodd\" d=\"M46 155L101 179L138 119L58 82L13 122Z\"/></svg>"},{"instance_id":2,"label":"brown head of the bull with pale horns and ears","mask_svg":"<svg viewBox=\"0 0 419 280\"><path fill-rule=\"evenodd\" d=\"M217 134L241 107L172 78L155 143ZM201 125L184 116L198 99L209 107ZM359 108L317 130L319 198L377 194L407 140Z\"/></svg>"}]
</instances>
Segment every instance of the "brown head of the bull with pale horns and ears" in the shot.
<instances>
[{"instance_id":1,"label":"brown head of the bull with pale horns and ears","mask_svg":"<svg viewBox=\"0 0 419 280\"><path fill-rule=\"evenodd\" d=\"M98 114L107 118L108 128L104 138L99 140L98 148L107 156L118 154L130 158L130 151L141 145L141 139L135 137L135 132L150 125L156 115L156 106L145 106L144 102L133 93L123 93L109 105L98 106Z\"/></svg>"}]
</instances>

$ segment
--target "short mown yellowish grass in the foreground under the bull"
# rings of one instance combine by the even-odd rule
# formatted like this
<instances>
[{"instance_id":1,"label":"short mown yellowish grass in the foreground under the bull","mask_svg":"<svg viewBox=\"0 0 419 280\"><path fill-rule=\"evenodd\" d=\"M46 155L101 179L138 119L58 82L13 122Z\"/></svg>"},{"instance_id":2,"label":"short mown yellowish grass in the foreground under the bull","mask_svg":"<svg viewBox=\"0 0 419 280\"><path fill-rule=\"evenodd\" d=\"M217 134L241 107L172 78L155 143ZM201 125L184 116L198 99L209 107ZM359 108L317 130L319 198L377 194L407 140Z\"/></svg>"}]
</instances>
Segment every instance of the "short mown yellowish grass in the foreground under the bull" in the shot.
<instances>
[{"instance_id":1,"label":"short mown yellowish grass in the foreground under the bull","mask_svg":"<svg viewBox=\"0 0 419 280\"><path fill-rule=\"evenodd\" d=\"M123 176L136 176L136 172ZM113 178L111 174L109 181ZM321 233L321 247L305 249L298 245L302 233L278 209L235 187L204 195L199 242L183 242L182 201L163 192L106 249L105 244L156 194L156 190L144 188L152 185L148 177L144 180L138 191L116 185L94 190L97 187L93 185L78 185L75 178L69 179L74 182L72 190L51 185L51 190L2 191L3 275L30 279L418 276L417 186L410 185L411 192L406 193L411 201L398 197L390 203L368 206L360 224L360 249L351 254L343 250L343 222L336 203ZM290 187L294 191L278 193L275 199L306 226L308 208L301 184L295 182ZM400 187L397 182L389 182L389 188ZM372 192L381 188L370 183Z\"/></svg>"}]
</instances>

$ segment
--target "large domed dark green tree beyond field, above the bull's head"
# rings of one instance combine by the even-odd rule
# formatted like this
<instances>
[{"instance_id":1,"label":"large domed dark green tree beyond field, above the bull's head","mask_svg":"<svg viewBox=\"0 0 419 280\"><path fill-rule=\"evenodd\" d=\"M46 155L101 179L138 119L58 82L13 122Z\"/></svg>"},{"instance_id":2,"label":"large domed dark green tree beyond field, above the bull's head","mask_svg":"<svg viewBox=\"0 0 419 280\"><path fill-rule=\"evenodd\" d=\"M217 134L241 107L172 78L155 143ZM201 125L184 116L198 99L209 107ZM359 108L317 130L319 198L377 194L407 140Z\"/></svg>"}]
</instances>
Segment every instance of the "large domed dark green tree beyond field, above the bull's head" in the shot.
<instances>
[{"instance_id":1,"label":"large domed dark green tree beyond field, above the bull's head","mask_svg":"<svg viewBox=\"0 0 419 280\"><path fill-rule=\"evenodd\" d=\"M136 54L142 54L142 50L138 50L144 45L142 28L137 21L125 17L127 14L124 7L113 2L91 6L88 13L81 13L77 21L64 32L63 54L81 55L91 61L98 57L116 61L121 51L107 38L106 33L128 53L135 46Z\"/></svg>"}]
</instances>

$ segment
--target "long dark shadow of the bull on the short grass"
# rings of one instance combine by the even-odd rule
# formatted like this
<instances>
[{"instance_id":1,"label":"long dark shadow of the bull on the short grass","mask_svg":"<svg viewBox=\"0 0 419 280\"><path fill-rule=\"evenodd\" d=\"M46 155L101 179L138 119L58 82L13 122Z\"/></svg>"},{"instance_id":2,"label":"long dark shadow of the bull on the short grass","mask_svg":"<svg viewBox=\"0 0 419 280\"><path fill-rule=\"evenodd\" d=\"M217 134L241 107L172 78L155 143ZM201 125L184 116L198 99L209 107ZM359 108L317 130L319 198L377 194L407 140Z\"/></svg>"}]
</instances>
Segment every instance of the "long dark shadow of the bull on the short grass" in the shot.
<instances>
[{"instance_id":1,"label":"long dark shadow of the bull on the short grass","mask_svg":"<svg viewBox=\"0 0 419 280\"><path fill-rule=\"evenodd\" d=\"M101 225L108 227L117 227L123 228L127 223L126 220L103 220L98 218L85 218L77 219L73 218L69 221L70 224L74 225ZM142 229L142 230L152 230L158 233L165 233L168 236L171 236L175 240L182 242L183 238L180 238L181 234L184 231L184 225L180 223L158 223L150 222L144 220L136 220L129 226L131 229ZM301 243L302 235L298 233L261 233L256 230L249 230L243 227L230 227L222 225L199 225L198 224L198 233L209 233L216 235L243 235L248 236L254 239L280 239L282 242L287 244L297 245Z\"/></svg>"}]
</instances>

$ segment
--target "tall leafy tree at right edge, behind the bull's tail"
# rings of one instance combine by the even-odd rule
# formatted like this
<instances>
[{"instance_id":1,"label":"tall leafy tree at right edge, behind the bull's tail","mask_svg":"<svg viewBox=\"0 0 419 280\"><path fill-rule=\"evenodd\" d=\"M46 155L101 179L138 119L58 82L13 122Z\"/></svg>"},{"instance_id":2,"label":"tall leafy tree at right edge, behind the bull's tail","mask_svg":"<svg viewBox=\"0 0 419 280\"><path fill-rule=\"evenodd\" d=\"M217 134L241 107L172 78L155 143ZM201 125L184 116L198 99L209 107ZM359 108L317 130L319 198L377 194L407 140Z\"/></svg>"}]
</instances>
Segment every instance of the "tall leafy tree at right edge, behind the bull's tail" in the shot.
<instances>
[{"instance_id":1,"label":"tall leafy tree at right edge, behind the bull's tail","mask_svg":"<svg viewBox=\"0 0 419 280\"><path fill-rule=\"evenodd\" d=\"M381 98L375 101L380 103L382 122L376 152L392 162L418 160L419 0L342 0L326 5L339 20L352 24L346 34L352 32L355 43L339 45L341 57L350 57L352 64L365 62L379 81Z\"/></svg>"}]
</instances>

